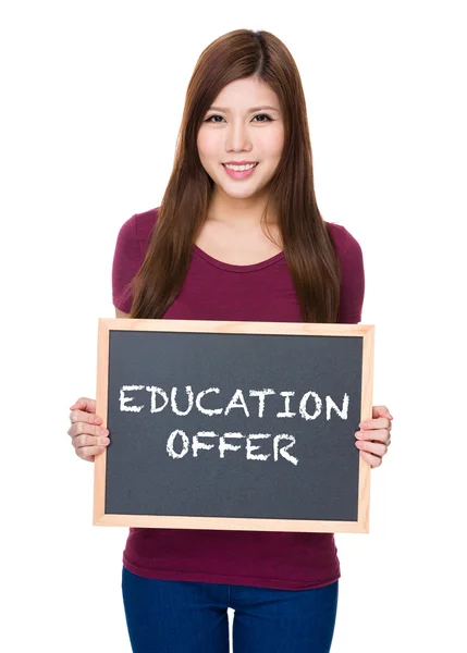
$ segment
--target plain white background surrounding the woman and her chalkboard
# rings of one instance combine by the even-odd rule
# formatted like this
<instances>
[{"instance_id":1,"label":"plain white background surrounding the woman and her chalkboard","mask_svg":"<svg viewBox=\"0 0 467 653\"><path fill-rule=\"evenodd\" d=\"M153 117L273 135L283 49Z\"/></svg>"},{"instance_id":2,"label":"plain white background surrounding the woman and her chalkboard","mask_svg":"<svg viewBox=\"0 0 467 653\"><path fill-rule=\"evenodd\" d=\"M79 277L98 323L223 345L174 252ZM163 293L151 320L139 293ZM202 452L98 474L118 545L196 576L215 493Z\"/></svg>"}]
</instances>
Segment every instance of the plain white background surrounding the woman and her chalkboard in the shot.
<instances>
[{"instance_id":1,"label":"plain white background surrounding the woman and her chalkboard","mask_svg":"<svg viewBox=\"0 0 467 653\"><path fill-rule=\"evenodd\" d=\"M370 533L336 537L332 651L465 650L464 3L161 4L2 3L0 649L130 651L126 530L91 526L69 406L95 396L116 234L160 204L196 60L248 27L300 71L318 205L362 247L373 403L395 417Z\"/></svg>"}]
</instances>

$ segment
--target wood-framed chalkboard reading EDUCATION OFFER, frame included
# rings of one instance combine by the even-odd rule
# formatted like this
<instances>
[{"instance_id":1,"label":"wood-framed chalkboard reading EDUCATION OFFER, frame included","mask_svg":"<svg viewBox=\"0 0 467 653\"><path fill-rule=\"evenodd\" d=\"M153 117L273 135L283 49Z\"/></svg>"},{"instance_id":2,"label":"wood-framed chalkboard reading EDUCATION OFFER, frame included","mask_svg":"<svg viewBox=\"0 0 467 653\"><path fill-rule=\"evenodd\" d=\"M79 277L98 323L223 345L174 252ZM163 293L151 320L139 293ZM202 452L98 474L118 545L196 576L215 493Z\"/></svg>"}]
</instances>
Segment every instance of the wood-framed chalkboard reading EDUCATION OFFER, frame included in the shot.
<instances>
[{"instance_id":1,"label":"wood-framed chalkboard reading EDUCATION OFFER, frame included","mask_svg":"<svg viewBox=\"0 0 467 653\"><path fill-rule=\"evenodd\" d=\"M373 330L99 320L94 522L368 532Z\"/></svg>"}]
</instances>

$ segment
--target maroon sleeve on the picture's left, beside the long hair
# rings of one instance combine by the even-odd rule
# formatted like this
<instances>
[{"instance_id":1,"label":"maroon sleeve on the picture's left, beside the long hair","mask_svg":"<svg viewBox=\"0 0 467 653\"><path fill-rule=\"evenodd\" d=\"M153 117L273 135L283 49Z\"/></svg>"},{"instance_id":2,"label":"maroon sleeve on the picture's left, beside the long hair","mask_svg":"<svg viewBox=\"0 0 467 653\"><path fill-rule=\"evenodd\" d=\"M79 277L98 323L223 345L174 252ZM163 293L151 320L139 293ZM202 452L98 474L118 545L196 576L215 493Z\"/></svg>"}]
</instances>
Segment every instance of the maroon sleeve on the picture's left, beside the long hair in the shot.
<instances>
[{"instance_id":1,"label":"maroon sleeve on the picture's left, beside the long hair","mask_svg":"<svg viewBox=\"0 0 467 653\"><path fill-rule=\"evenodd\" d=\"M137 215L135 214L122 225L116 237L113 255L113 305L126 313L130 313L133 303L131 283L143 263L136 221Z\"/></svg>"}]
</instances>

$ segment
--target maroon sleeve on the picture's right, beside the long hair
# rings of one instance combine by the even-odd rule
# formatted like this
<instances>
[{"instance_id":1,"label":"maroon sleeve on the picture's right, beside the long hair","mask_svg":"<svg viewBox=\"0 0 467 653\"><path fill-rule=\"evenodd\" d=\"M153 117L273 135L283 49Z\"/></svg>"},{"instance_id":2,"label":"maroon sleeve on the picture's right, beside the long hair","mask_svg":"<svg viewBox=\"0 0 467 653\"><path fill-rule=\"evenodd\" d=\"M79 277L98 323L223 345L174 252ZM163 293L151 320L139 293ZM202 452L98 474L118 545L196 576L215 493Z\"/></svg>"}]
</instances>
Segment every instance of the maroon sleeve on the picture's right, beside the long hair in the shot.
<instances>
[{"instance_id":1,"label":"maroon sleeve on the picture's right, beside the long hair","mask_svg":"<svg viewBox=\"0 0 467 653\"><path fill-rule=\"evenodd\" d=\"M343 227L341 227L343 229ZM341 303L337 322L342 324L358 324L361 320L361 309L365 297L365 268L361 247L347 230L341 261Z\"/></svg>"}]
</instances>

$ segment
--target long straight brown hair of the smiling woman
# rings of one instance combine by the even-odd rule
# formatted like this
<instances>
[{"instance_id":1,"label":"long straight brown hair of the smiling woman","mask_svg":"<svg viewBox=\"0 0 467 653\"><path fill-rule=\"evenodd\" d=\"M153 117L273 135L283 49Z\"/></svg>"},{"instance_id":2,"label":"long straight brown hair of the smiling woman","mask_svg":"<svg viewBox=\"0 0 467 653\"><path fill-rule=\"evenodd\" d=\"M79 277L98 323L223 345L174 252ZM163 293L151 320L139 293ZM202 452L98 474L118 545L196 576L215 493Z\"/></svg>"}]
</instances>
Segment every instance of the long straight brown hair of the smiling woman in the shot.
<instances>
[{"instance_id":1,"label":"long straight brown hair of the smiling woman","mask_svg":"<svg viewBox=\"0 0 467 653\"><path fill-rule=\"evenodd\" d=\"M197 61L186 93L172 174L145 261L133 280L131 317L160 318L180 293L213 188L198 156L199 127L224 86L254 75L276 94L284 115L285 145L269 182L268 202L272 201L276 209L302 319L337 320L339 258L315 197L311 144L298 69L273 34L251 29L236 29L219 37Z\"/></svg>"}]
</instances>

